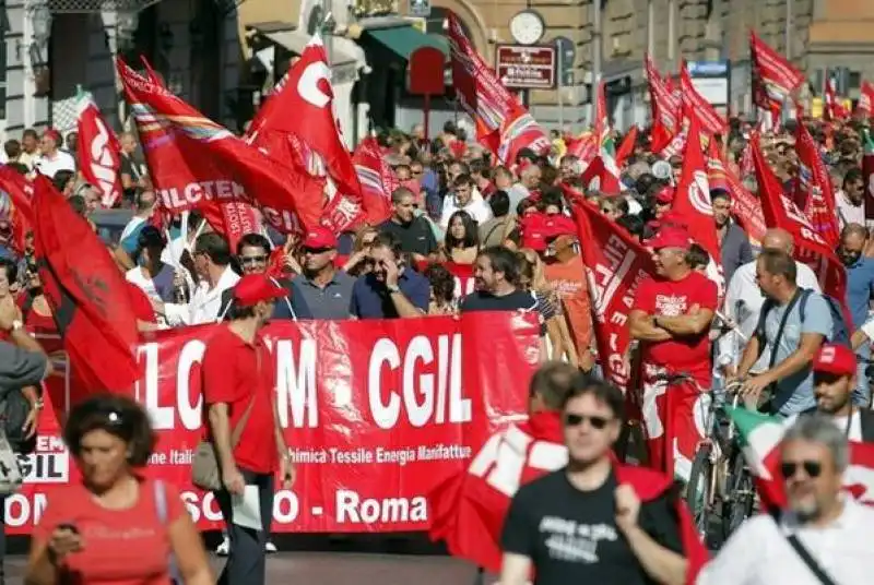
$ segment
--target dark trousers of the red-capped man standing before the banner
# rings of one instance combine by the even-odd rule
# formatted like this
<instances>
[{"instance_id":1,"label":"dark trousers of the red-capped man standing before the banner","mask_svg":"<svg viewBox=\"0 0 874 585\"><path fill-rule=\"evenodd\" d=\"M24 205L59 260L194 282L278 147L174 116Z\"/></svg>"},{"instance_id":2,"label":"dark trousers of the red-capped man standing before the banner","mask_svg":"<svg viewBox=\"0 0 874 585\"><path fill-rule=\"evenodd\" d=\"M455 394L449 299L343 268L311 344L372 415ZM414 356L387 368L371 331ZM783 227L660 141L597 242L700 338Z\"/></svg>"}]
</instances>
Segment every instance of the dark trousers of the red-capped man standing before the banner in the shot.
<instances>
[{"instance_id":1,"label":"dark trousers of the red-capped man standing before the banner","mask_svg":"<svg viewBox=\"0 0 874 585\"><path fill-rule=\"evenodd\" d=\"M273 521L273 474L256 474L248 469L239 471L246 479L247 486L258 486L263 526L261 530L252 530L234 524L231 493L224 489L214 492L231 539L227 563L218 577L218 585L264 585L267 583L264 544Z\"/></svg>"}]
</instances>

